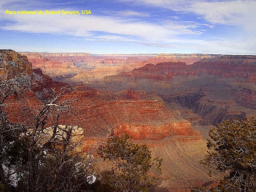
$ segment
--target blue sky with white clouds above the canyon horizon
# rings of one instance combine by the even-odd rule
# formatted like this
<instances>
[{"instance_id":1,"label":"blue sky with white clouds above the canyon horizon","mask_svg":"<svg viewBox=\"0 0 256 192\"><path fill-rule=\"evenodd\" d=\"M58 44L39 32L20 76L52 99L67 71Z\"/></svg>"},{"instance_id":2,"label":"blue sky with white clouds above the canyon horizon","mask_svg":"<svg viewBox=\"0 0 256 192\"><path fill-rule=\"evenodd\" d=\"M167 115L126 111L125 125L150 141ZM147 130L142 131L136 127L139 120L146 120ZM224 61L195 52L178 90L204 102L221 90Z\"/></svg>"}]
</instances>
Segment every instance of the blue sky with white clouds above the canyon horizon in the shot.
<instances>
[{"instance_id":1,"label":"blue sky with white clouds above the canyon horizon","mask_svg":"<svg viewBox=\"0 0 256 192\"><path fill-rule=\"evenodd\" d=\"M91 10L91 15L9 15ZM255 0L0 0L0 48L31 52L256 54Z\"/></svg>"}]
</instances>

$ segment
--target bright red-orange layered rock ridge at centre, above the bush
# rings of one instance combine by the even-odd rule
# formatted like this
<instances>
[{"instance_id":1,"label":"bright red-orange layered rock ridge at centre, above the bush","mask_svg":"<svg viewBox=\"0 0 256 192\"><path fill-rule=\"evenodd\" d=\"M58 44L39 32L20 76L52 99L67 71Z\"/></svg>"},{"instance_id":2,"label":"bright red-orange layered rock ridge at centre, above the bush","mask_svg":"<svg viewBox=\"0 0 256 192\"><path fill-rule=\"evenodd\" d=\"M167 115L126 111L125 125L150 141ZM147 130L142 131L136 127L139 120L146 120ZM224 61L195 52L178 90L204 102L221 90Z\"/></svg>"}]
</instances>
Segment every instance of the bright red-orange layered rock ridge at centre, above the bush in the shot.
<instances>
[{"instance_id":1,"label":"bright red-orange layered rock ridge at centre, above the bush","mask_svg":"<svg viewBox=\"0 0 256 192\"><path fill-rule=\"evenodd\" d=\"M100 100L95 97L85 97L85 92L73 92L78 98L73 105L80 112L80 118L63 117L61 124L70 119L82 127L91 127L84 131L85 136L127 132L134 139L161 140L177 135L189 136L191 140L200 140L201 135L190 123L171 111L163 102L149 100ZM64 96L70 98L70 95ZM81 120L84 119L84 120Z\"/></svg>"}]
</instances>

